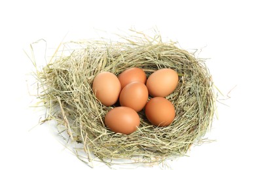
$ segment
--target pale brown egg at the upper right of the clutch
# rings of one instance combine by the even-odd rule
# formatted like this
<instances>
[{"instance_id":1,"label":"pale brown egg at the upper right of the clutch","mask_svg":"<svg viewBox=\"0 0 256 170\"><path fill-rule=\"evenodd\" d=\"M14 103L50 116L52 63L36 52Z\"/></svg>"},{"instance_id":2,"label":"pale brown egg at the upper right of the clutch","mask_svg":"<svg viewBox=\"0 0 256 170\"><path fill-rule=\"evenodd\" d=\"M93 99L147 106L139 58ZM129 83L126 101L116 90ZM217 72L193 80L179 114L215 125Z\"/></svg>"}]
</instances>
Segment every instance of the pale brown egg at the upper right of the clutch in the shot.
<instances>
[{"instance_id":1,"label":"pale brown egg at the upper right of the clutch","mask_svg":"<svg viewBox=\"0 0 256 170\"><path fill-rule=\"evenodd\" d=\"M179 76L173 69L159 69L147 78L147 89L153 97L166 97L174 92Z\"/></svg>"}]
</instances>

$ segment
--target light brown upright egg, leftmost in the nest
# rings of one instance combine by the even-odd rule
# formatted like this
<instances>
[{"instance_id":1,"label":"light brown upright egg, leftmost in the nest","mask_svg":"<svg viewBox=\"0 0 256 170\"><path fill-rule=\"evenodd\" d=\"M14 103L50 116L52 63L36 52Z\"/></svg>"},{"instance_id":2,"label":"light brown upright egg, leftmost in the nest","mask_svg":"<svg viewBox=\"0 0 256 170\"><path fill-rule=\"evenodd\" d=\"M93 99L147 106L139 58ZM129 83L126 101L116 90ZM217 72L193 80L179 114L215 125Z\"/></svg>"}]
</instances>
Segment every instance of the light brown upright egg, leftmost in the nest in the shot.
<instances>
[{"instance_id":1,"label":"light brown upright egg, leftmost in the nest","mask_svg":"<svg viewBox=\"0 0 256 170\"><path fill-rule=\"evenodd\" d=\"M102 72L94 78L92 90L103 105L110 106L119 99L121 84L113 73Z\"/></svg>"}]
</instances>

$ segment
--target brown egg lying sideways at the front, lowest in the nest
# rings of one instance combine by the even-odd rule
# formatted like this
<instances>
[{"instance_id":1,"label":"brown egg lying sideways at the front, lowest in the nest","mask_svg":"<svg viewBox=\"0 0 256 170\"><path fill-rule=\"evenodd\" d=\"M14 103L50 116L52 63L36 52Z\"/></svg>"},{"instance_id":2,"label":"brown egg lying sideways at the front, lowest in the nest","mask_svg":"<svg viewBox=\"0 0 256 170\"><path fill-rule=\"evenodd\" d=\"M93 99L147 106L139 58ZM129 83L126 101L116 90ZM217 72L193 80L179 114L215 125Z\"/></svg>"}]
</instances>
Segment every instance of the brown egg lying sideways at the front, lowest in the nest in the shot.
<instances>
[{"instance_id":1,"label":"brown egg lying sideways at the front, lowest in the nest","mask_svg":"<svg viewBox=\"0 0 256 170\"><path fill-rule=\"evenodd\" d=\"M128 135L139 127L139 115L129 107L115 107L105 115L105 125L115 133Z\"/></svg>"}]
</instances>

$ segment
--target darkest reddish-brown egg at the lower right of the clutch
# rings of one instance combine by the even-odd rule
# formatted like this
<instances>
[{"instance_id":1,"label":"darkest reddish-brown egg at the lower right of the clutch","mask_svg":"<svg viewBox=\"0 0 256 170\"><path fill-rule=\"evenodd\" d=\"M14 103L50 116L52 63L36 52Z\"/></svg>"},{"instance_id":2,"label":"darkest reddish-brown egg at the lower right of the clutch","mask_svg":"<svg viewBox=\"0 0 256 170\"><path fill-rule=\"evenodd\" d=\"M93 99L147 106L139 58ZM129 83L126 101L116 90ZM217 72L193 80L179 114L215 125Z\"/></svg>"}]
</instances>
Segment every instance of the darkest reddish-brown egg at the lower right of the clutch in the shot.
<instances>
[{"instance_id":1,"label":"darkest reddish-brown egg at the lower right of the clutch","mask_svg":"<svg viewBox=\"0 0 256 170\"><path fill-rule=\"evenodd\" d=\"M172 124L175 118L175 109L172 102L164 97L154 97L145 106L147 120L151 124L163 127Z\"/></svg>"}]
</instances>

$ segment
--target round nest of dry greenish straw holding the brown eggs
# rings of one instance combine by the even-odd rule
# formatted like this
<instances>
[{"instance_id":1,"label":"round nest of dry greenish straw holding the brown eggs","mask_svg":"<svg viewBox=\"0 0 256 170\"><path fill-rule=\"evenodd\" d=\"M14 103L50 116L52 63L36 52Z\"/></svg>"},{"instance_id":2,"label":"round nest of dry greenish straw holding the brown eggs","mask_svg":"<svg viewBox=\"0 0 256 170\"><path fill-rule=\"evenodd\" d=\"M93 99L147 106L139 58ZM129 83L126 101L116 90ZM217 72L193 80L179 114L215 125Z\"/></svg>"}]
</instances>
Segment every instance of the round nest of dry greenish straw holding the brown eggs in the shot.
<instances>
[{"instance_id":1,"label":"round nest of dry greenish straw holding the brown eggs","mask_svg":"<svg viewBox=\"0 0 256 170\"><path fill-rule=\"evenodd\" d=\"M162 42L160 35L137 34L122 37L124 41L120 42L64 43L63 50L58 48L61 53L57 52L37 71L42 90L38 97L48 108L43 122L54 119L63 125L69 139L81 143L88 161L100 159L111 164L112 160L129 159L160 163L184 156L191 144L202 142L211 125L215 100L204 61L177 48L174 42ZM92 92L94 76L101 71L119 75L130 67L143 69L147 76L161 68L177 71L177 89L166 97L176 111L170 126L151 125L142 110L138 113L141 124L134 133L122 135L107 129L104 116L116 106L105 107L96 99Z\"/></svg>"}]
</instances>

